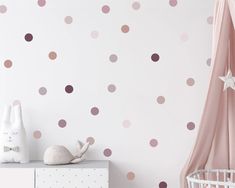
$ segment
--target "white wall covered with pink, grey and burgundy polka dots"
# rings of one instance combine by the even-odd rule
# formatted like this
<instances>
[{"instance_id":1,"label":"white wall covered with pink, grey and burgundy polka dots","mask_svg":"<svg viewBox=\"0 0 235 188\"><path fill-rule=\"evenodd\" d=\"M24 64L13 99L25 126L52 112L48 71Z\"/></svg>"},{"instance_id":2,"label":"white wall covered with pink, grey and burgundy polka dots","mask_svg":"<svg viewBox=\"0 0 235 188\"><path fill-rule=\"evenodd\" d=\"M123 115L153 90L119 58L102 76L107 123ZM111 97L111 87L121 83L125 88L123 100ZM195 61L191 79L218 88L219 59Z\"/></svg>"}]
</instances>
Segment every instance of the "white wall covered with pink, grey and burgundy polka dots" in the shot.
<instances>
[{"instance_id":1,"label":"white wall covered with pink, grey and burgundy polka dots","mask_svg":"<svg viewBox=\"0 0 235 188\"><path fill-rule=\"evenodd\" d=\"M213 64L213 0L0 0L0 114L31 159L79 139L112 188L179 187Z\"/></svg>"}]
</instances>

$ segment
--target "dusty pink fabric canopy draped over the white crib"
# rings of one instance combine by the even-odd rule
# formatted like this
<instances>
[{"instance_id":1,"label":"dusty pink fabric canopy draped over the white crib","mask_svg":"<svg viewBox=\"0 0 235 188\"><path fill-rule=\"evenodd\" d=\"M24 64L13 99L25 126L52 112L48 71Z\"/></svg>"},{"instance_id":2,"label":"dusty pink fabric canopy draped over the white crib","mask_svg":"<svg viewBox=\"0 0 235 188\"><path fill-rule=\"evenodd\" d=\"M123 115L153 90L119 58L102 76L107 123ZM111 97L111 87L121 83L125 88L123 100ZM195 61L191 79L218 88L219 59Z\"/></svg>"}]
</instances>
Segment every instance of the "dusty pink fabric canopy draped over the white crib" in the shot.
<instances>
[{"instance_id":1,"label":"dusty pink fabric canopy draped over the white crib","mask_svg":"<svg viewBox=\"0 0 235 188\"><path fill-rule=\"evenodd\" d=\"M186 176L198 169L235 169L235 91L223 91L219 79L229 67L235 76L234 26L235 0L215 0L214 68L196 143L181 172L181 188L187 188Z\"/></svg>"}]
</instances>

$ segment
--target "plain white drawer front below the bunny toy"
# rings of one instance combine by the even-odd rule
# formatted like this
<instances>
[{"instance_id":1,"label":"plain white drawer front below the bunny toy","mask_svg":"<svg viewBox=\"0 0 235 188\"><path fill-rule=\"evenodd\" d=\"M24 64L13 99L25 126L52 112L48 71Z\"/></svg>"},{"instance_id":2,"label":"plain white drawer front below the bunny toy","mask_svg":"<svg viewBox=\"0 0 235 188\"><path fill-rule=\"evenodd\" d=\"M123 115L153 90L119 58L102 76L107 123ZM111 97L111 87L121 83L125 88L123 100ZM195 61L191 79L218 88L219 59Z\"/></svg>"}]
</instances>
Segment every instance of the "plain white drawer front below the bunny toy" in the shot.
<instances>
[{"instance_id":1,"label":"plain white drawer front below the bunny toy","mask_svg":"<svg viewBox=\"0 0 235 188\"><path fill-rule=\"evenodd\" d=\"M0 168L0 187L34 188L33 168Z\"/></svg>"}]
</instances>

